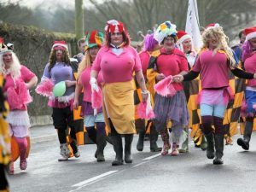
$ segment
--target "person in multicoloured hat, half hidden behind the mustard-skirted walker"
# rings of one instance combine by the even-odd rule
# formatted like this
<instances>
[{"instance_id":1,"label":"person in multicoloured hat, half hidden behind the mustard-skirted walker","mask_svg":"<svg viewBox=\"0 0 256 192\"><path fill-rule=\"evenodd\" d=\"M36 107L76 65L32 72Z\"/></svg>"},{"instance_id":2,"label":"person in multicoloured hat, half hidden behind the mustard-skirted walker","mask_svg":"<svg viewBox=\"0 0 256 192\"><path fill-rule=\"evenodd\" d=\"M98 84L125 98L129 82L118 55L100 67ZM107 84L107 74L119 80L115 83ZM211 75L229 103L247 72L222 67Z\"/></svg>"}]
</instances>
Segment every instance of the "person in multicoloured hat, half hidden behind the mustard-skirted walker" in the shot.
<instances>
[{"instance_id":1,"label":"person in multicoloured hat, half hidden behind the mustard-skirted walker","mask_svg":"<svg viewBox=\"0 0 256 192\"><path fill-rule=\"evenodd\" d=\"M97 161L105 161L103 150L107 143L102 108L98 108L95 111L91 107L90 72L92 63L95 61L96 55L102 47L103 39L103 33L96 30L90 32L86 37L87 45L85 46L84 59L79 64L79 78L73 102L73 107L79 108L79 93L84 88L81 116L84 117L84 126L90 140L97 145L95 154ZM97 84L102 84L102 73L98 76Z\"/></svg>"}]
</instances>

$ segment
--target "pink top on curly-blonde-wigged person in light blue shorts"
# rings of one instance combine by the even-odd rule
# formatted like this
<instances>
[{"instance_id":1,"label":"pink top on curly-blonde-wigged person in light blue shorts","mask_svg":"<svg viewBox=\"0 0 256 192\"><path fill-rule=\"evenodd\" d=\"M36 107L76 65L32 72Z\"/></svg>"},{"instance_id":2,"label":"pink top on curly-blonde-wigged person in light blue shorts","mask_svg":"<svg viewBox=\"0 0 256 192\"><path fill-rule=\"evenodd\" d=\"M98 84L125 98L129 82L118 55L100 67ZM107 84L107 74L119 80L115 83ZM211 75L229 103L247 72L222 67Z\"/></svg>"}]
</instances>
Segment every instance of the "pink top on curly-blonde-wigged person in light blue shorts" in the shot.
<instances>
[{"instance_id":1,"label":"pink top on curly-blonde-wigged person in light blue shorts","mask_svg":"<svg viewBox=\"0 0 256 192\"><path fill-rule=\"evenodd\" d=\"M229 86L229 64L224 53L217 52L212 55L212 50L205 50L195 61L192 68L201 73L201 87L220 88Z\"/></svg>"}]
</instances>

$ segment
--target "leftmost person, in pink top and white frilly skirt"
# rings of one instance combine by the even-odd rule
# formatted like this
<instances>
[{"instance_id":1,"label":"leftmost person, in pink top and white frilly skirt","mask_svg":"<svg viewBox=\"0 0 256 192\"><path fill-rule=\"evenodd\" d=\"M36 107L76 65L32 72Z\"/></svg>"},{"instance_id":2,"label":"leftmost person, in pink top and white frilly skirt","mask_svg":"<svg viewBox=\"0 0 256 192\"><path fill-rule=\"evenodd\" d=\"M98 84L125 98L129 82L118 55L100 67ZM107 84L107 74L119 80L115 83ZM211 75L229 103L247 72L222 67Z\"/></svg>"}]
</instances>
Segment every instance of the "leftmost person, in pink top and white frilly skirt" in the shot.
<instances>
[{"instance_id":1,"label":"leftmost person, in pink top and white frilly skirt","mask_svg":"<svg viewBox=\"0 0 256 192\"><path fill-rule=\"evenodd\" d=\"M1 42L2 43L2 42ZM0 73L5 77L3 91L7 94L9 103L9 114L6 121L9 123L9 132L15 137L20 151L20 169L26 170L26 150L30 127L26 105L32 102L29 90L34 87L38 78L25 66L20 65L20 61L15 53L7 49L5 45L0 48ZM14 162L10 163L9 173L14 173Z\"/></svg>"}]
</instances>

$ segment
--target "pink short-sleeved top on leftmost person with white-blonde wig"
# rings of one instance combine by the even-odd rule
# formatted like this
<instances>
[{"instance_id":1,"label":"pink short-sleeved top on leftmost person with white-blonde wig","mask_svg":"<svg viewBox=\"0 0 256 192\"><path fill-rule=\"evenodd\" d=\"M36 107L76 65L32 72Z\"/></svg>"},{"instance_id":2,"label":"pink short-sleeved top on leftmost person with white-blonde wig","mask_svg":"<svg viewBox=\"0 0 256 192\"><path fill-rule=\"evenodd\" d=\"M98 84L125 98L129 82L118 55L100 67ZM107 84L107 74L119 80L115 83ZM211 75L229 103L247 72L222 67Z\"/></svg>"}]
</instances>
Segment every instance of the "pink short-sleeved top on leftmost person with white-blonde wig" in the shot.
<instances>
[{"instance_id":1,"label":"pink short-sleeved top on leftmost person with white-blonde wig","mask_svg":"<svg viewBox=\"0 0 256 192\"><path fill-rule=\"evenodd\" d=\"M27 67L21 66L21 68L20 68L20 78L15 80L16 86L15 86L14 79L12 79L10 74L8 74L5 78L5 84L4 84L3 90L6 92L9 88L15 88L15 91L18 94L18 96L19 95L21 96L21 94L22 94L22 96L24 96L24 95L26 95L26 93L20 93L21 88L19 89L20 86L17 86L17 85L18 84L23 84L24 85L25 83L29 82L35 76L36 75L34 73L32 73L32 71L30 71ZM25 90L25 91L27 91L27 90ZM17 99L17 102L21 102L20 99ZM27 110L25 103L20 103L19 107L12 107L11 103L9 103L9 104L10 104L10 109L11 110L14 110L14 109Z\"/></svg>"}]
</instances>

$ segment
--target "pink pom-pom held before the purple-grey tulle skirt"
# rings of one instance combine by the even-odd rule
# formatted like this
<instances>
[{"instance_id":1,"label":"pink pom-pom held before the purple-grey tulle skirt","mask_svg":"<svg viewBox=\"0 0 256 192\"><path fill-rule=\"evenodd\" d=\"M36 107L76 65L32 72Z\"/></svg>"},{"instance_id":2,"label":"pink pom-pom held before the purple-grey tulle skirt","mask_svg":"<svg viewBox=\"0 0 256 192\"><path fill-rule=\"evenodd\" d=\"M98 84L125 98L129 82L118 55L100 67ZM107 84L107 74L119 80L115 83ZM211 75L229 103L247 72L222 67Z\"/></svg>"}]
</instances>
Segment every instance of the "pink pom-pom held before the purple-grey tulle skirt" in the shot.
<instances>
[{"instance_id":1,"label":"pink pom-pom held before the purple-grey tulle skirt","mask_svg":"<svg viewBox=\"0 0 256 192\"><path fill-rule=\"evenodd\" d=\"M160 96L174 96L177 91L172 85L172 75L166 77L166 79L163 79L159 83L155 84L154 90Z\"/></svg>"}]
</instances>

